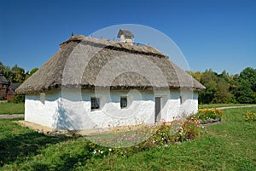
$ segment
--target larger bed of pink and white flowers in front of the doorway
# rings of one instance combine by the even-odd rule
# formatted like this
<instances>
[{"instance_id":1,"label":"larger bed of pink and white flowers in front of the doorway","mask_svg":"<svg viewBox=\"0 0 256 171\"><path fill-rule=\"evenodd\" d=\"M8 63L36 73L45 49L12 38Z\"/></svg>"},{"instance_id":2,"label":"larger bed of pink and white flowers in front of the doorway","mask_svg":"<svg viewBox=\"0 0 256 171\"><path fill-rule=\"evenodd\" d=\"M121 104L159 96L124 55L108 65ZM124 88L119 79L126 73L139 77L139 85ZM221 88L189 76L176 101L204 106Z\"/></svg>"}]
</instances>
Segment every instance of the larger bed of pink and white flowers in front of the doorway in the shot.
<instances>
[{"instance_id":1,"label":"larger bed of pink and white flowers in front of the doorway","mask_svg":"<svg viewBox=\"0 0 256 171\"><path fill-rule=\"evenodd\" d=\"M139 128L137 134L124 132L116 137L111 136L110 141L109 139L104 139L104 136L95 136L94 142L96 143L90 142L89 144L90 152L97 156L108 155L109 153L126 156L136 153L137 151L147 151L149 148L153 147L166 147L170 144L195 140L195 138L200 134L201 128L199 128L198 125L199 123L196 118L192 117L187 118L184 121L179 119L168 123L160 123L160 125L157 126L144 125L142 128ZM143 139L143 142L137 143L138 139ZM120 145L124 145L125 141L132 141L134 145L125 148L122 148L121 146L117 146L115 148L103 146L106 145L106 142L108 145L109 143L114 142L119 142Z\"/></svg>"}]
</instances>

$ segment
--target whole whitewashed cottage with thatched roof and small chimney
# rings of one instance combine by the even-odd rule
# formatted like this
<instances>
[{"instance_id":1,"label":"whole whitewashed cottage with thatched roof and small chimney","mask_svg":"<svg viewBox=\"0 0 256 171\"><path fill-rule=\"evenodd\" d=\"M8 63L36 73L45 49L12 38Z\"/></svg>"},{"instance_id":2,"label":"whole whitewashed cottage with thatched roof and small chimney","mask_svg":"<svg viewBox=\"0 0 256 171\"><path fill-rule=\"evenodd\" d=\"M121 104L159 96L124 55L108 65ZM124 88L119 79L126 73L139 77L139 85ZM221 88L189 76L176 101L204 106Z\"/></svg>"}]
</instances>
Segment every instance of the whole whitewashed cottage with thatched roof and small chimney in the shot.
<instances>
[{"instance_id":1,"label":"whole whitewashed cottage with thatched roof and small chimney","mask_svg":"<svg viewBox=\"0 0 256 171\"><path fill-rule=\"evenodd\" d=\"M73 35L16 90L26 94L25 120L57 130L172 121L198 109L201 83L158 49Z\"/></svg>"}]
</instances>

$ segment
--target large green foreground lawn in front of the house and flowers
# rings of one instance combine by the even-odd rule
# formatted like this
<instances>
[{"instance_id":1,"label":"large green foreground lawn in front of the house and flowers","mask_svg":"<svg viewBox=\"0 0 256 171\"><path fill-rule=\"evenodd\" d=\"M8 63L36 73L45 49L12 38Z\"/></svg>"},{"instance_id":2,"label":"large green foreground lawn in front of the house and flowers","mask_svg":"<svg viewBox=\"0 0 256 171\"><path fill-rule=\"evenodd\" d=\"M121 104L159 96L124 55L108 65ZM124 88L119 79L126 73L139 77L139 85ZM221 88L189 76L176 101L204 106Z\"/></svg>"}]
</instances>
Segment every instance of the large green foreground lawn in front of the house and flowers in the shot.
<instances>
[{"instance_id":1,"label":"large green foreground lawn in front of the house and flowers","mask_svg":"<svg viewBox=\"0 0 256 171\"><path fill-rule=\"evenodd\" d=\"M256 122L224 110L224 122L203 128L191 142L148 151L95 155L83 137L50 137L0 120L0 170L256 170Z\"/></svg>"}]
</instances>

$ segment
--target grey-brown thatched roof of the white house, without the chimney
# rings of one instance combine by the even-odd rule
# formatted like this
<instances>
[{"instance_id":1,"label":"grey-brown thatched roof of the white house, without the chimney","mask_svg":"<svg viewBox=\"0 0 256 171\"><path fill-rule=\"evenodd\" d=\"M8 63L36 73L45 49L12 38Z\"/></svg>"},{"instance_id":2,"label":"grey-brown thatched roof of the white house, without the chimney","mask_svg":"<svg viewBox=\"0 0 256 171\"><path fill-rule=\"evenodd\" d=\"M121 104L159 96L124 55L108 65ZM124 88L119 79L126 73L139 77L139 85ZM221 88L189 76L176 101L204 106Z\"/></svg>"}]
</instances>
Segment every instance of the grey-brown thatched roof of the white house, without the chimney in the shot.
<instances>
[{"instance_id":1,"label":"grey-brown thatched roof of the white house, without the chimney","mask_svg":"<svg viewBox=\"0 0 256 171\"><path fill-rule=\"evenodd\" d=\"M53 88L179 89L205 87L156 48L74 35L16 89L37 94Z\"/></svg>"}]
</instances>

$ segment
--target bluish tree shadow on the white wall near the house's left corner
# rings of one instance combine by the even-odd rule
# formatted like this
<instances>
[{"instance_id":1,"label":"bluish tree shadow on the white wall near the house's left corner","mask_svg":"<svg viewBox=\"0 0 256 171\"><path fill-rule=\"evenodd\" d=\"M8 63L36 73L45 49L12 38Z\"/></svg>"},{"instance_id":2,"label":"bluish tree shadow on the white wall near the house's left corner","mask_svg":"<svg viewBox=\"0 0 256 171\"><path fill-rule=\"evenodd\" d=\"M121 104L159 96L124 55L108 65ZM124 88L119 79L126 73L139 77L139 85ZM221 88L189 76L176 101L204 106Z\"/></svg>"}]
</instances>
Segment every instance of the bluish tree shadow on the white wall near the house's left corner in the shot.
<instances>
[{"instance_id":1,"label":"bluish tree shadow on the white wall near the house's left corner","mask_svg":"<svg viewBox=\"0 0 256 171\"><path fill-rule=\"evenodd\" d=\"M76 115L73 110L65 108L63 99L58 100L58 106L53 116L53 123L51 128L56 130L78 130L81 124L81 119Z\"/></svg>"}]
</instances>

